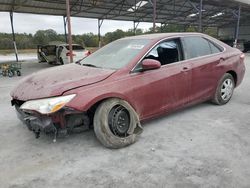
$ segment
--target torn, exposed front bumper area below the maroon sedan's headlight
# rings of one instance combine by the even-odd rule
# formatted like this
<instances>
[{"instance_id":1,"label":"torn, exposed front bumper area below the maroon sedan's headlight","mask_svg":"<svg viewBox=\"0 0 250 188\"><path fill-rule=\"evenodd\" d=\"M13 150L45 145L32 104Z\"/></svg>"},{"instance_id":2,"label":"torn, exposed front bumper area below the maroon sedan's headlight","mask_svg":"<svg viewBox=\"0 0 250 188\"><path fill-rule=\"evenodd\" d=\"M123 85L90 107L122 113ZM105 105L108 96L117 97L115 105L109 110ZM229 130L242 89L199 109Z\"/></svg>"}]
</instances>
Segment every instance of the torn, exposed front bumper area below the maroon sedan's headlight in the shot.
<instances>
[{"instance_id":1,"label":"torn, exposed front bumper area below the maroon sedan's headlight","mask_svg":"<svg viewBox=\"0 0 250 188\"><path fill-rule=\"evenodd\" d=\"M66 136L71 132L85 131L89 129L90 120L86 113L70 108L63 108L53 114L40 114L34 111L24 111L20 106L24 101L13 99L11 104L16 108L17 117L30 131L39 138L40 133L53 134L54 142L57 136Z\"/></svg>"}]
</instances>

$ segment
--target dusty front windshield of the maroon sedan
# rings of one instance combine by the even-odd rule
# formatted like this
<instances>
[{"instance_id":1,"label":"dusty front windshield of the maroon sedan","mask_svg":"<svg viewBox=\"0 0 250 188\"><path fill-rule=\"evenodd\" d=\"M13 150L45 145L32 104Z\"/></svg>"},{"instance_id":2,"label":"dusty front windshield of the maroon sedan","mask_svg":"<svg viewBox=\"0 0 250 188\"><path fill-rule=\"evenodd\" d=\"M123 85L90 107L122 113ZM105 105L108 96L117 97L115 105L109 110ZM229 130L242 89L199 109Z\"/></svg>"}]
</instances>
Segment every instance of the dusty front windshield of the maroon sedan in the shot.
<instances>
[{"instance_id":1,"label":"dusty front windshield of the maroon sedan","mask_svg":"<svg viewBox=\"0 0 250 188\"><path fill-rule=\"evenodd\" d=\"M148 39L117 40L86 57L80 64L107 69L120 69L127 65L149 41Z\"/></svg>"}]
</instances>

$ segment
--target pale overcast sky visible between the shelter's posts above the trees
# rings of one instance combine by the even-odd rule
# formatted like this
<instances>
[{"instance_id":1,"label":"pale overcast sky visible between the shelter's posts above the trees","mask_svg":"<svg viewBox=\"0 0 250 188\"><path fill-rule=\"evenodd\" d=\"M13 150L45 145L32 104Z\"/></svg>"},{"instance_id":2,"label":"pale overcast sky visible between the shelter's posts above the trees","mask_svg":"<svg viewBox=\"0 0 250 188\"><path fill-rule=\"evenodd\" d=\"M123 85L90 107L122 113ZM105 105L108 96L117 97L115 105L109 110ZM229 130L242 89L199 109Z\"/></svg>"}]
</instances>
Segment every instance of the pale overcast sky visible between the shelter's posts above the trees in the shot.
<instances>
[{"instance_id":1,"label":"pale overcast sky visible between the shelter's posts above the trees","mask_svg":"<svg viewBox=\"0 0 250 188\"><path fill-rule=\"evenodd\" d=\"M97 34L97 19L71 18L72 34L92 32ZM140 23L138 28L146 30L152 27L152 23ZM16 33L32 33L37 30L53 29L57 33L64 33L62 16L47 16L36 14L14 13L14 28ZM122 29L124 31L133 28L131 21L104 20L101 27L101 35L107 32ZM8 12L0 12L0 32L11 33L10 16Z\"/></svg>"}]
</instances>

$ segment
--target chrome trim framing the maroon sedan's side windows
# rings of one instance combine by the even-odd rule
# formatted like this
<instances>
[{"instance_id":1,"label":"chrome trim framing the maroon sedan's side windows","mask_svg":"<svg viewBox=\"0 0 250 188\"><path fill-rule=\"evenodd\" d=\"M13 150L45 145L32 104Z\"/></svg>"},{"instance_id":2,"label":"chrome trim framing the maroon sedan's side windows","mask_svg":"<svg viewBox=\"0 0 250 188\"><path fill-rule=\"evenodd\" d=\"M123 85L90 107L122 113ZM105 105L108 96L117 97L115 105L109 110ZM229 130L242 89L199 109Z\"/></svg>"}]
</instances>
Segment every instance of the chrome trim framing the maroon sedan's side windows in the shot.
<instances>
[{"instance_id":1,"label":"chrome trim framing the maroon sedan's side windows","mask_svg":"<svg viewBox=\"0 0 250 188\"><path fill-rule=\"evenodd\" d=\"M159 43L163 42L164 40L169 40L169 39L176 39L176 38L179 38L180 41L181 41L181 47L182 47L182 54L184 55L184 49L183 49L183 43L182 43L182 38L184 37L191 37L191 36L198 36L198 37L202 37L208 41L211 41L208 37L206 36L203 36L203 35L186 35L186 36L172 36L172 37L167 37L167 38L163 38L161 40L159 40L158 42L156 42L140 59L139 61L137 61L137 63L135 64L135 66L130 70L129 74L138 74L138 73L141 73L141 71L138 71L136 70L135 68L137 67L137 65L139 63L142 62L142 60L146 57L146 55L153 49L155 48ZM165 66L169 66L169 65L175 65L175 64L179 64L179 63L185 63L186 61L191 61L191 60L197 60L197 59L201 59L201 58L204 58L204 57L212 57L212 56L215 56L215 55L219 55L219 54L222 54L226 51L226 48L222 45L219 45L217 42L214 42L214 41L211 41L212 43L214 43L216 46L218 47L221 47L222 51L221 52L218 52L218 53L213 53L213 54L208 54L208 55L204 55L204 56L199 56L199 57L194 57L194 58L190 58L190 59L185 59L185 56L184 56L184 60L182 61L177 61L177 62L174 62L174 63L171 63L171 64L166 64L166 65L163 65L161 66L162 67L165 67ZM160 69L161 69L160 68Z\"/></svg>"}]
</instances>

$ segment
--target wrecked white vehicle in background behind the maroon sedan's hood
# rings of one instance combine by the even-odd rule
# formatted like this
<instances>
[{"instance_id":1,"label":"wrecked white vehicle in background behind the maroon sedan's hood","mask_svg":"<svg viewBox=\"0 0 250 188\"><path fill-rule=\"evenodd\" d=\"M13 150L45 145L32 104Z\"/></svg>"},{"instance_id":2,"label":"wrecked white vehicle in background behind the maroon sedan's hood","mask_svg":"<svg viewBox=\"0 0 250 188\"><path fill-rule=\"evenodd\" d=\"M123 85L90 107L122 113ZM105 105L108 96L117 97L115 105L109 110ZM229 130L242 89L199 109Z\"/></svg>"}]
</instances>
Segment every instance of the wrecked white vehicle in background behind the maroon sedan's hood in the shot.
<instances>
[{"instance_id":1,"label":"wrecked white vehicle in background behind the maroon sedan's hood","mask_svg":"<svg viewBox=\"0 0 250 188\"><path fill-rule=\"evenodd\" d=\"M73 62L77 62L90 55L90 51L78 44L72 44ZM70 62L70 52L68 44L38 45L37 57L39 62L50 64L68 64Z\"/></svg>"}]
</instances>

